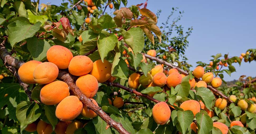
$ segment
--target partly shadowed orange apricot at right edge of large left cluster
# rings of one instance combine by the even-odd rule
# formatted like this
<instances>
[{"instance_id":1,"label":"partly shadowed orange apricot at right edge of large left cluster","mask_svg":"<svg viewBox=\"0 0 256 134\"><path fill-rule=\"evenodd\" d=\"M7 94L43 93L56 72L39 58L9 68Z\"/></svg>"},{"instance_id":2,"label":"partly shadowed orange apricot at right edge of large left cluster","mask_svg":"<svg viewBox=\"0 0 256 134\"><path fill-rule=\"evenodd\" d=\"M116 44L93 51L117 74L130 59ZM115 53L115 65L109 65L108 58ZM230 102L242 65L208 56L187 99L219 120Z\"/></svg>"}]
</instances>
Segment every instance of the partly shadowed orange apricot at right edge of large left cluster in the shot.
<instances>
[{"instance_id":1,"label":"partly shadowed orange apricot at right edge of large left cluster","mask_svg":"<svg viewBox=\"0 0 256 134\"><path fill-rule=\"evenodd\" d=\"M104 60L104 63L101 59L93 62L93 68L90 72L99 83L106 82L111 77L111 64L109 61Z\"/></svg>"}]
</instances>

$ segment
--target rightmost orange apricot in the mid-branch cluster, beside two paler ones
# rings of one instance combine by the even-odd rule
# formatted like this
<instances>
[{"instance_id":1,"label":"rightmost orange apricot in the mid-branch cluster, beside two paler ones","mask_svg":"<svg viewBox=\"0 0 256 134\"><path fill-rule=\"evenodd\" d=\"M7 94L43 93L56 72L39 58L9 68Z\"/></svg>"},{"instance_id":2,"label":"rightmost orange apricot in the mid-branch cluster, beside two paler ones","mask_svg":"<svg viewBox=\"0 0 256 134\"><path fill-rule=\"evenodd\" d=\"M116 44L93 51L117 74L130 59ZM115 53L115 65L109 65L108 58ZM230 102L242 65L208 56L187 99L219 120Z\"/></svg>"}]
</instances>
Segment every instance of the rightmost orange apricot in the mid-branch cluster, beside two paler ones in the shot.
<instances>
[{"instance_id":1,"label":"rightmost orange apricot in the mid-branch cluster, beside two paler ones","mask_svg":"<svg viewBox=\"0 0 256 134\"><path fill-rule=\"evenodd\" d=\"M174 72L167 77L166 84L169 88L176 87L178 84L181 83L181 80L181 74Z\"/></svg>"}]
</instances>

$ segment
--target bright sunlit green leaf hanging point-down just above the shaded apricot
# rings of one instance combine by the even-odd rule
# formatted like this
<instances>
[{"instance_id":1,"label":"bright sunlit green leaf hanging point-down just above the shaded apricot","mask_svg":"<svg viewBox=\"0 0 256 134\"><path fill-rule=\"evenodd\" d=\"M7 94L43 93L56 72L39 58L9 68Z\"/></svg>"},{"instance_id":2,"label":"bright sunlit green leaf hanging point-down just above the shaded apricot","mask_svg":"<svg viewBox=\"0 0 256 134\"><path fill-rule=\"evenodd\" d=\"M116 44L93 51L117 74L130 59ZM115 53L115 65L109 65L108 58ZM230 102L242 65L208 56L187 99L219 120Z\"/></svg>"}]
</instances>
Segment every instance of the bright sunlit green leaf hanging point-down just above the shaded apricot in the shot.
<instances>
[{"instance_id":1,"label":"bright sunlit green leaf hanging point-down just above the shaded apricot","mask_svg":"<svg viewBox=\"0 0 256 134\"><path fill-rule=\"evenodd\" d=\"M114 33L110 34L110 36L108 37L103 33L99 34L97 46L102 62L104 61L104 58L108 55L108 52L114 50L117 42L118 39Z\"/></svg>"}]
</instances>

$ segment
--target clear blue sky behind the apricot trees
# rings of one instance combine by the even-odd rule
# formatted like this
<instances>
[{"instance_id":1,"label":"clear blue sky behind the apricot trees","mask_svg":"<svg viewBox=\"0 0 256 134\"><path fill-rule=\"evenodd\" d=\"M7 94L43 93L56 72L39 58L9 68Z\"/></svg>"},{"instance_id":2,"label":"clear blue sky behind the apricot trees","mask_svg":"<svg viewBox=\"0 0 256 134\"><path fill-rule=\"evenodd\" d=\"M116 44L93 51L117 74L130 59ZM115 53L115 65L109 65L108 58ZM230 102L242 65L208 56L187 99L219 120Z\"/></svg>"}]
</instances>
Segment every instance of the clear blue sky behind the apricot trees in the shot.
<instances>
[{"instance_id":1,"label":"clear blue sky behind the apricot trees","mask_svg":"<svg viewBox=\"0 0 256 134\"><path fill-rule=\"evenodd\" d=\"M62 0L46 1L59 5ZM64 1L67 2L67 1ZM128 0L127 7L144 3L145 0ZM194 69L197 61L210 62L211 55L229 53L229 56L240 56L242 52L250 48L256 48L256 1L174 1L174 0L148 0L147 8L156 13L162 10L158 19L158 25L165 22L172 11L172 7L178 7L184 11L179 24L187 30L193 26L189 36L189 46L185 52L188 63ZM111 12L108 8L107 12ZM114 10L112 9L112 12ZM178 13L176 13L177 16ZM171 21L172 19L170 19ZM224 73L224 80L238 79L240 75L256 76L256 62L233 64L236 72L231 77Z\"/></svg>"}]
</instances>

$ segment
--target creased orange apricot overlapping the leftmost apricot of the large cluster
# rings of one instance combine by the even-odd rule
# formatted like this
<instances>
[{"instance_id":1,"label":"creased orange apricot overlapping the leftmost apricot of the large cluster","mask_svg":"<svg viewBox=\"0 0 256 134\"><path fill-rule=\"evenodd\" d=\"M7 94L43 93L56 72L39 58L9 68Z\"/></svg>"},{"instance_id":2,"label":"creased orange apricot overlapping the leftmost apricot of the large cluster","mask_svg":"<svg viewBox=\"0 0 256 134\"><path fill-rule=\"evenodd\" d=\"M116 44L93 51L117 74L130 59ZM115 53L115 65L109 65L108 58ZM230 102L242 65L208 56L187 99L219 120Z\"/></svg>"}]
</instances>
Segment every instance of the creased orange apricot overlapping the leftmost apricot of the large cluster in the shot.
<instances>
[{"instance_id":1,"label":"creased orange apricot overlapping the leftmost apricot of the large cluster","mask_svg":"<svg viewBox=\"0 0 256 134\"><path fill-rule=\"evenodd\" d=\"M48 84L53 82L59 74L58 67L51 62L44 62L36 66L33 77L38 84Z\"/></svg>"}]
</instances>

